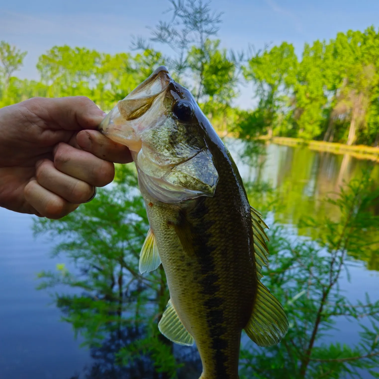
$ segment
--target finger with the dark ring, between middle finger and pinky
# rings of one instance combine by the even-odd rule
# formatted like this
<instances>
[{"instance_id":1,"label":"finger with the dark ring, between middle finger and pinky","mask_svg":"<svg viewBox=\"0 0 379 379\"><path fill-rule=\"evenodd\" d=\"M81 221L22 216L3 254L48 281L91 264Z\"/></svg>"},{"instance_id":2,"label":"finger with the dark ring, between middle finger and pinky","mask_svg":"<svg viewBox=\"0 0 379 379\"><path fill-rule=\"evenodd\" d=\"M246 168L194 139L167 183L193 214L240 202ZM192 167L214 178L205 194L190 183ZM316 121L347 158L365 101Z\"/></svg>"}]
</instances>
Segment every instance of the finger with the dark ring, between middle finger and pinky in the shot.
<instances>
[{"instance_id":1,"label":"finger with the dark ring, between middle finger and pinky","mask_svg":"<svg viewBox=\"0 0 379 379\"><path fill-rule=\"evenodd\" d=\"M70 203L85 203L94 194L93 186L58 171L47 159L37 162L36 179L39 185Z\"/></svg>"}]
</instances>

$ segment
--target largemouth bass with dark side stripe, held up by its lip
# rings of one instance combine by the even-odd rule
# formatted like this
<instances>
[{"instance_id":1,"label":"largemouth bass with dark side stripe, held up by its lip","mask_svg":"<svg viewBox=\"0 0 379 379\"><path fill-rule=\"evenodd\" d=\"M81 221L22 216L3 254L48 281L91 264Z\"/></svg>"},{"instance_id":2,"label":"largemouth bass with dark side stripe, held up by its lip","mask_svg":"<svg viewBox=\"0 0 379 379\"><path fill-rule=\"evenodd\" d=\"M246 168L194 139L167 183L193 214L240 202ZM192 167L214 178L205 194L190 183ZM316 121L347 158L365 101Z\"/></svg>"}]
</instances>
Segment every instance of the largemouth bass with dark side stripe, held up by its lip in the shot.
<instances>
[{"instance_id":1,"label":"largemouth bass with dark side stripe, held up by its lip","mask_svg":"<svg viewBox=\"0 0 379 379\"><path fill-rule=\"evenodd\" d=\"M200 379L237 379L241 333L279 343L288 321L260 282L267 225L252 208L228 149L188 89L164 66L103 119L100 131L127 146L150 229L139 270L161 264L170 300L158 324L180 345L196 343Z\"/></svg>"}]
</instances>

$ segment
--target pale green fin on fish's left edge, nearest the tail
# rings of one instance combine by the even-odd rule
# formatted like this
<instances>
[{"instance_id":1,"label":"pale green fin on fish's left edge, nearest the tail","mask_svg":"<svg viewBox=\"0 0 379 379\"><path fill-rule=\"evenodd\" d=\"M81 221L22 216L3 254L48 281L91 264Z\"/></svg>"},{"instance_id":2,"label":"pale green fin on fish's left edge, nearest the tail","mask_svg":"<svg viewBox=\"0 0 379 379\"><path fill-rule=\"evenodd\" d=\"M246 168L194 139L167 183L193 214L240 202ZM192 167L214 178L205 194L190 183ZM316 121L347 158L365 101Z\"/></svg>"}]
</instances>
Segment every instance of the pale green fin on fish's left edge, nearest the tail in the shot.
<instances>
[{"instance_id":1,"label":"pale green fin on fish's left edge, nearest the tail","mask_svg":"<svg viewBox=\"0 0 379 379\"><path fill-rule=\"evenodd\" d=\"M180 321L171 299L168 301L167 308L163 312L158 328L164 337L172 342L179 343L179 345L192 346L195 342L191 334L189 334L188 330L182 324L182 321Z\"/></svg>"}]
</instances>

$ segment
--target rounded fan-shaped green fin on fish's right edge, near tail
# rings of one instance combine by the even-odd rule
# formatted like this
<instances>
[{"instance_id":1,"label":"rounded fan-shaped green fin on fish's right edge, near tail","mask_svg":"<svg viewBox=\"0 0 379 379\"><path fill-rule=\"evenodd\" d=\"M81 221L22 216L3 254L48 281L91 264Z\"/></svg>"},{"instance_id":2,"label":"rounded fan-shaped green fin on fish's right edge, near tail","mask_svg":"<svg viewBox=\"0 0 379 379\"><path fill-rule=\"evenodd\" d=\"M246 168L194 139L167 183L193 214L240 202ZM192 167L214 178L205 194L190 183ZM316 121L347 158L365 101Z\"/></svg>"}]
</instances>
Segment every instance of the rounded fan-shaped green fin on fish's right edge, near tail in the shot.
<instances>
[{"instance_id":1,"label":"rounded fan-shaped green fin on fish's right edge, near tail","mask_svg":"<svg viewBox=\"0 0 379 379\"><path fill-rule=\"evenodd\" d=\"M258 346L276 345L288 330L282 305L259 280L253 312L244 329Z\"/></svg>"}]
</instances>

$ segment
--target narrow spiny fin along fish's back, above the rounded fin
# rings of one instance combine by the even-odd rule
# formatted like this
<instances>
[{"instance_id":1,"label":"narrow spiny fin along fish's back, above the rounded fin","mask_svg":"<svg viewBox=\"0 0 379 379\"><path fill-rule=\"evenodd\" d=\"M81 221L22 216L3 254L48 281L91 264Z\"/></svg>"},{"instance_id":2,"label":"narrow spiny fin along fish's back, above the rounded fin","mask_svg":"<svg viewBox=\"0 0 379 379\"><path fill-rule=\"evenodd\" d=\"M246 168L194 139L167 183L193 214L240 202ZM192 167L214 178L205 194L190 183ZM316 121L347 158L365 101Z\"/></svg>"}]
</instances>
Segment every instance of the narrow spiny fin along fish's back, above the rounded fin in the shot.
<instances>
[{"instance_id":1,"label":"narrow spiny fin along fish's back, above the rounded fin","mask_svg":"<svg viewBox=\"0 0 379 379\"><path fill-rule=\"evenodd\" d=\"M254 252L255 252L255 263L257 267L258 279L262 278L261 270L262 266L268 265L268 247L266 241L268 241L268 236L266 235L263 228L268 229L268 226L262 220L262 215L250 207L251 221L253 226L254 235Z\"/></svg>"}]
</instances>

